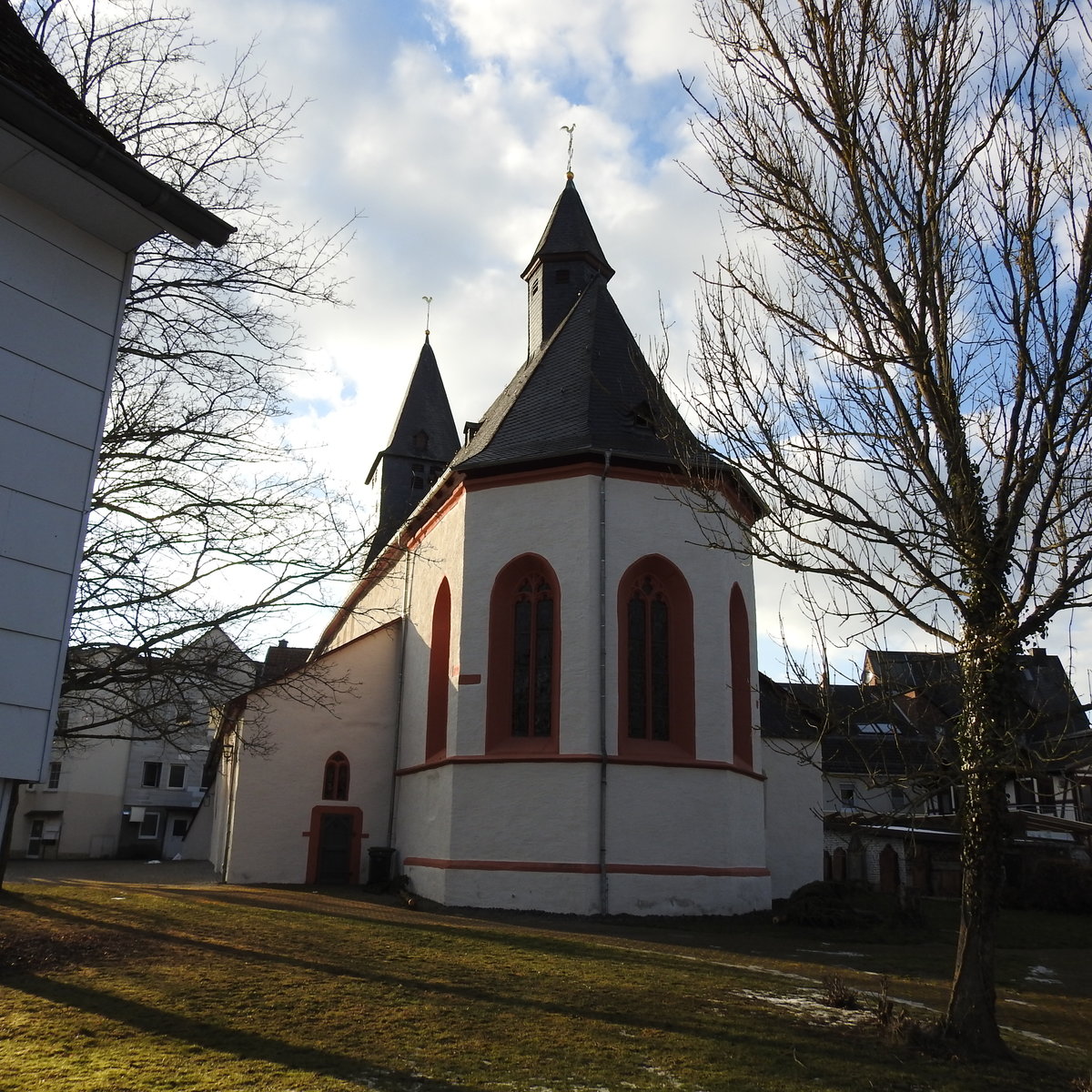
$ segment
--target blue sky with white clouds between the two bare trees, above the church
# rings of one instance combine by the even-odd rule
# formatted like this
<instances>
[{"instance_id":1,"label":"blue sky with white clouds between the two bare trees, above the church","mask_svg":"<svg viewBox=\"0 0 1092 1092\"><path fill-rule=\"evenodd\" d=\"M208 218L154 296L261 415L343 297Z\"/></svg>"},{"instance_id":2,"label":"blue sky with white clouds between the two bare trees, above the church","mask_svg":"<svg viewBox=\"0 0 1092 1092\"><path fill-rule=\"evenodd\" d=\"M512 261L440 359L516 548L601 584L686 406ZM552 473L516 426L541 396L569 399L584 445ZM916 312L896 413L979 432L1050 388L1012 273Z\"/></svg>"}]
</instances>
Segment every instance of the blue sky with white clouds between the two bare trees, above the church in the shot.
<instances>
[{"instance_id":1,"label":"blue sky with white clouds between the two bare trees, above the church","mask_svg":"<svg viewBox=\"0 0 1092 1092\"><path fill-rule=\"evenodd\" d=\"M695 271L722 249L716 200L689 128L708 44L691 0L192 0L226 66L257 34L277 92L308 99L268 195L328 229L359 216L342 273L352 307L302 314L309 373L293 390L296 442L364 496L420 348L431 341L455 420L477 419L522 363L530 259L573 170L612 292L643 347L669 329L691 349ZM791 585L759 568L760 667L784 677L782 637L809 628ZM299 640L313 638L302 632ZM893 637L890 646L912 646ZM1068 634L1051 651L1067 656ZM835 667L859 668L859 645ZM916 646L933 651L918 639ZM1087 674L1075 664L1075 682Z\"/></svg>"}]
</instances>

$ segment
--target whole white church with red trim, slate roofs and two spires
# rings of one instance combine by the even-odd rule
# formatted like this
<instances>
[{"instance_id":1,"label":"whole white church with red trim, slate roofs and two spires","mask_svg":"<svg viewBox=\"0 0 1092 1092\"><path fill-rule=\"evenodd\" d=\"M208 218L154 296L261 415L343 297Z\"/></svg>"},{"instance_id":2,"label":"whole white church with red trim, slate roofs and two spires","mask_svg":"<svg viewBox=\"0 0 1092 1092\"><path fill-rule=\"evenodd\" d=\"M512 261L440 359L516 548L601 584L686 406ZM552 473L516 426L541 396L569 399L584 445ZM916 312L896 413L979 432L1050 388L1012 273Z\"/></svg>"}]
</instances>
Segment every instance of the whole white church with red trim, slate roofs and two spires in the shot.
<instances>
[{"instance_id":1,"label":"whole white church with red trim, slate roofs and two spires","mask_svg":"<svg viewBox=\"0 0 1092 1092\"><path fill-rule=\"evenodd\" d=\"M359 585L227 710L226 880L394 855L449 905L731 914L821 875L819 774L759 746L752 568L681 500L700 475L740 543L762 502L682 424L613 274L570 176L523 273L527 359L462 446L426 335ZM328 702L300 697L318 673Z\"/></svg>"}]
</instances>

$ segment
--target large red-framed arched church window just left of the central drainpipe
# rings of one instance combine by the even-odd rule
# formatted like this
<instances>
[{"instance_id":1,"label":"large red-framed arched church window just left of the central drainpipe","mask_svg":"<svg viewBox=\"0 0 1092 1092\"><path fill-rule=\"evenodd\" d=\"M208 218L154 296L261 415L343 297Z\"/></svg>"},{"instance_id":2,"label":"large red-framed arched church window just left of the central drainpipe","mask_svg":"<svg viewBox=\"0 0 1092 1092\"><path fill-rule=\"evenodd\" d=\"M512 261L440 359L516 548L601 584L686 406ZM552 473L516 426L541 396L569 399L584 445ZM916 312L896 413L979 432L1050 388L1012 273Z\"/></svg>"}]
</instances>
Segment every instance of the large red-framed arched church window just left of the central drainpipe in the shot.
<instances>
[{"instance_id":1,"label":"large red-framed arched church window just left of the central drainpipe","mask_svg":"<svg viewBox=\"0 0 1092 1092\"><path fill-rule=\"evenodd\" d=\"M486 750L557 753L560 666L557 575L524 554L500 570L489 600Z\"/></svg>"}]
</instances>

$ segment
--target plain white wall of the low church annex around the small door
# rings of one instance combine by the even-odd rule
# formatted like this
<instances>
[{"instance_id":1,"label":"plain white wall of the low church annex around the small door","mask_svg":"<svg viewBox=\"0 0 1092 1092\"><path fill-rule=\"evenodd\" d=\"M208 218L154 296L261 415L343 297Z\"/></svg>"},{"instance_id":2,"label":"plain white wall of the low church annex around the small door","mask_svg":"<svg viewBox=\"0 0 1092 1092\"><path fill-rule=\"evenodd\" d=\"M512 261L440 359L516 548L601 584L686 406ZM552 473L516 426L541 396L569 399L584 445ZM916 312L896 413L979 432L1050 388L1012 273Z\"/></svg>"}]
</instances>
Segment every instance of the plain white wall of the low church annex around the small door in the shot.
<instances>
[{"instance_id":1,"label":"plain white wall of the low church annex around the small door","mask_svg":"<svg viewBox=\"0 0 1092 1092\"><path fill-rule=\"evenodd\" d=\"M227 811L215 859L227 882L302 883L312 809L322 806L360 808L367 835L360 877L367 877L368 847L388 841L399 630L388 626L322 657L321 668L341 688L336 712L292 677L249 697L244 734L259 729L269 750L236 752L234 776L228 769L217 793L217 808ZM322 797L323 770L335 751L349 761L346 800Z\"/></svg>"}]
</instances>

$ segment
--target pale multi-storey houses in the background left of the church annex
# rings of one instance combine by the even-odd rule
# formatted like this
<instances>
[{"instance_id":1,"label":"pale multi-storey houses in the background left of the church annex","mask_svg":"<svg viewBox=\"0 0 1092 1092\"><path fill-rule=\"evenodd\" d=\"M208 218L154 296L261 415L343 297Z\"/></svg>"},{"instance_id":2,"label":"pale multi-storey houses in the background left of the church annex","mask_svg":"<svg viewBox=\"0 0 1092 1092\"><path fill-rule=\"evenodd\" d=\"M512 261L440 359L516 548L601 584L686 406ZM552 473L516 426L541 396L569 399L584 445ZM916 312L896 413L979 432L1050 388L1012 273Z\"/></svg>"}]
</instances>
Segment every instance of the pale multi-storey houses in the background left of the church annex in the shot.
<instances>
[{"instance_id":1,"label":"pale multi-storey houses in the background left of the church annex","mask_svg":"<svg viewBox=\"0 0 1092 1092\"><path fill-rule=\"evenodd\" d=\"M249 689L257 665L218 629L178 657L194 669L170 665L169 698L150 669L128 690L61 707L46 776L20 794L13 857L209 858L210 708Z\"/></svg>"}]
</instances>

